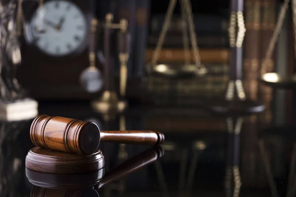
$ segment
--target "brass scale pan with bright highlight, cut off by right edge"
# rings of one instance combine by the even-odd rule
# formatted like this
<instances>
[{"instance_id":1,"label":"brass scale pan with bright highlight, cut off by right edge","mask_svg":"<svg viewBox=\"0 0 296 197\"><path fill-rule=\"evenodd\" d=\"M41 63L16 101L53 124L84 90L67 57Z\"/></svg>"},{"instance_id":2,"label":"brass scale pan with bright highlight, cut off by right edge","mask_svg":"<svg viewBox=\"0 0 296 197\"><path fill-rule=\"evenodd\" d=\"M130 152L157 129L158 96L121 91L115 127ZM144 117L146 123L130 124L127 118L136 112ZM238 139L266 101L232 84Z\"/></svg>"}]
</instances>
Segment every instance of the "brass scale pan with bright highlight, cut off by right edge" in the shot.
<instances>
[{"instance_id":1,"label":"brass scale pan with bright highlight, cut off by right edge","mask_svg":"<svg viewBox=\"0 0 296 197\"><path fill-rule=\"evenodd\" d=\"M265 73L260 81L273 88L294 89L296 88L296 76L281 76L276 72Z\"/></svg>"}]
</instances>

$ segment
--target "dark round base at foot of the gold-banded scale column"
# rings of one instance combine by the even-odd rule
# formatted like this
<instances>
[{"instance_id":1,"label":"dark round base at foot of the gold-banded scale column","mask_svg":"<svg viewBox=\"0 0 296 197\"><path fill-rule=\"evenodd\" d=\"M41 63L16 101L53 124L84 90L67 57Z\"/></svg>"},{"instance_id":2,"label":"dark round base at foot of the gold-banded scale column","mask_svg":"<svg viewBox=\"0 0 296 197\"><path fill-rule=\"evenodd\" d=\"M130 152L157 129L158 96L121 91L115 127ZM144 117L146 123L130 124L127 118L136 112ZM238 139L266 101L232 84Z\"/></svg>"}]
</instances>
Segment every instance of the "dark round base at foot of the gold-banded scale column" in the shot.
<instances>
[{"instance_id":1,"label":"dark round base at foot of the gold-banded scale column","mask_svg":"<svg viewBox=\"0 0 296 197\"><path fill-rule=\"evenodd\" d=\"M207 108L216 113L222 114L251 114L260 113L265 110L263 103L253 100L232 100L224 98L207 100Z\"/></svg>"}]
</instances>

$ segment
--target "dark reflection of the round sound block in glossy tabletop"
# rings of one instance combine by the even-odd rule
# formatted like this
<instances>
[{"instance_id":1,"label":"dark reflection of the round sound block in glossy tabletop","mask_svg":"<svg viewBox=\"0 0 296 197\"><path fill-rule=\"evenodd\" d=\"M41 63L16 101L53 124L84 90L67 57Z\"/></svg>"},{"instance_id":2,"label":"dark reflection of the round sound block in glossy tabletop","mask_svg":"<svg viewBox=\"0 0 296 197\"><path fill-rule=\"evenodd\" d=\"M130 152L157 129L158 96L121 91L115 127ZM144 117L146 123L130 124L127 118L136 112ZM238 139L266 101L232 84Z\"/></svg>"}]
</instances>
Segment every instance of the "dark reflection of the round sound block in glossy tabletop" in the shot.
<instances>
[{"instance_id":1,"label":"dark reflection of the round sound block in glossy tabletop","mask_svg":"<svg viewBox=\"0 0 296 197\"><path fill-rule=\"evenodd\" d=\"M26 168L26 176L30 183L42 188L85 188L96 185L104 176L104 168L79 174L52 174L36 172Z\"/></svg>"}]
</instances>

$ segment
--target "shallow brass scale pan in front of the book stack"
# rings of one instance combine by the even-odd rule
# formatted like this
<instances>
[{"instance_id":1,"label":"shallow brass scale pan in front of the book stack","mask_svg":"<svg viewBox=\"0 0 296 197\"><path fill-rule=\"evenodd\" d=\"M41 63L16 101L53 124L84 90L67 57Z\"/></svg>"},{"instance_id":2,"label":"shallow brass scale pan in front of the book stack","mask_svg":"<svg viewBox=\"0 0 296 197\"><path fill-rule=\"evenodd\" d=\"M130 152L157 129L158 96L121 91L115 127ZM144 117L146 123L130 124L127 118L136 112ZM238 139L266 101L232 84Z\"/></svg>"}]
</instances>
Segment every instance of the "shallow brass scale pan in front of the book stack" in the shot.
<instances>
[{"instance_id":1,"label":"shallow brass scale pan in front of the book stack","mask_svg":"<svg viewBox=\"0 0 296 197\"><path fill-rule=\"evenodd\" d=\"M207 73L206 68L196 69L196 66L192 64L158 64L151 67L151 72L167 77L193 77Z\"/></svg>"}]
</instances>

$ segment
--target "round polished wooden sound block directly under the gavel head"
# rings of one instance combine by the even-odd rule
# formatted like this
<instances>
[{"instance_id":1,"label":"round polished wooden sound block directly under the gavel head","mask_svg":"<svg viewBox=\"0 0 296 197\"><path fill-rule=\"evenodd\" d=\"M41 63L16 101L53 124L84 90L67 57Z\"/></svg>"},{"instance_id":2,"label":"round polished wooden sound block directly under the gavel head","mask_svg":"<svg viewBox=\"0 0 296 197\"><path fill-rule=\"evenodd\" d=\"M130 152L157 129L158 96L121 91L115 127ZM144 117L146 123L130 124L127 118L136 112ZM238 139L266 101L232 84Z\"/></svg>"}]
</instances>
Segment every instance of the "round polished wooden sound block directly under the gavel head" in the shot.
<instances>
[{"instance_id":1,"label":"round polished wooden sound block directly under the gavel head","mask_svg":"<svg viewBox=\"0 0 296 197\"><path fill-rule=\"evenodd\" d=\"M35 147L26 157L28 169L53 174L92 172L102 169L104 164L104 155L100 150L91 155L78 155Z\"/></svg>"}]
</instances>

